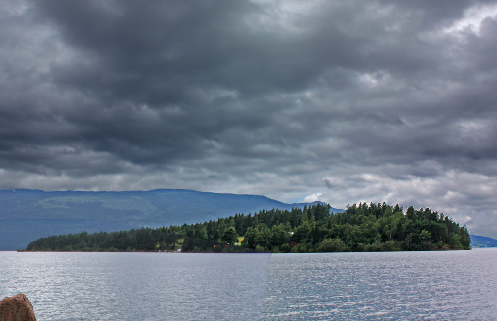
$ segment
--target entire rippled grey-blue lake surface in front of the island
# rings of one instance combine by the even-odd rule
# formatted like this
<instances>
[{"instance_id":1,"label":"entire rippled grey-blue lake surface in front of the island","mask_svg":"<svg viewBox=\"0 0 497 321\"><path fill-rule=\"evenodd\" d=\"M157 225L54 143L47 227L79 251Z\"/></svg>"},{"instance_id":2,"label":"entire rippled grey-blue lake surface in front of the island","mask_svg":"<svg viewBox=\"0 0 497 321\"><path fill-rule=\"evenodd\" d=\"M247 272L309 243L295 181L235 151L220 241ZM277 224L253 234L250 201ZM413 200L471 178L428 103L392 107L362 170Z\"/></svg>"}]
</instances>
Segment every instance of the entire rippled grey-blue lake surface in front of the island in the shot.
<instances>
[{"instance_id":1,"label":"entire rippled grey-blue lake surface in front of the island","mask_svg":"<svg viewBox=\"0 0 497 321\"><path fill-rule=\"evenodd\" d=\"M497 248L0 252L0 297L26 294L38 321L496 320L496 284Z\"/></svg>"}]
</instances>

